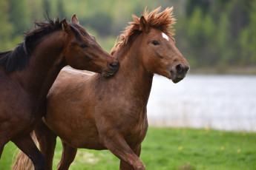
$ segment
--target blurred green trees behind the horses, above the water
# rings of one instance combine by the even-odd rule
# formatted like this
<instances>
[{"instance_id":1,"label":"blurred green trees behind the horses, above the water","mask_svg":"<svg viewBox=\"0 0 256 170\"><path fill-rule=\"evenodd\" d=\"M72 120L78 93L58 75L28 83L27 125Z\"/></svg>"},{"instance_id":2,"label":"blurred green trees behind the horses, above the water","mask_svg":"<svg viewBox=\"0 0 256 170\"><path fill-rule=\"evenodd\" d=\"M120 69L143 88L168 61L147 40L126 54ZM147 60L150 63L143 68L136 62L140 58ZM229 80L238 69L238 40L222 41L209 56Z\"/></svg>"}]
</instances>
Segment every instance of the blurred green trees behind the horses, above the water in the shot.
<instances>
[{"instance_id":1,"label":"blurred green trees behind the horses, above the water","mask_svg":"<svg viewBox=\"0 0 256 170\"><path fill-rule=\"evenodd\" d=\"M11 50L22 41L22 32L33 29L36 18L68 17L98 36L113 40L145 7L174 6L177 47L191 67L256 66L256 0L1 0L0 50ZM112 47L114 42L106 42Z\"/></svg>"}]
</instances>

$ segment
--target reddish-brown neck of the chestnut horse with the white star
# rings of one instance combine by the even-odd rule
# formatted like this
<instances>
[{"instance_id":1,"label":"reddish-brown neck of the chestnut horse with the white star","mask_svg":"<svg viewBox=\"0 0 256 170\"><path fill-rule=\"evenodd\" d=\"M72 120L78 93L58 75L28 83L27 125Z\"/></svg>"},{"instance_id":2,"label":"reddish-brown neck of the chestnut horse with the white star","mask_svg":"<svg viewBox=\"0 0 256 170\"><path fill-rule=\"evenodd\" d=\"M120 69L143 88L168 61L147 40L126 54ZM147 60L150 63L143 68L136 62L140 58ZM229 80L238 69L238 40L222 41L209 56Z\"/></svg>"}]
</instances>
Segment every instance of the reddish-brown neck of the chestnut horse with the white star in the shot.
<instances>
[{"instance_id":1,"label":"reddish-brown neck of the chestnut horse with the white star","mask_svg":"<svg viewBox=\"0 0 256 170\"><path fill-rule=\"evenodd\" d=\"M120 58L120 67L116 78L122 81L123 86L128 89L125 92L136 95L136 98L140 98L146 106L154 74L148 72L142 63L141 41L141 35L134 37L117 55L117 59Z\"/></svg>"}]
</instances>

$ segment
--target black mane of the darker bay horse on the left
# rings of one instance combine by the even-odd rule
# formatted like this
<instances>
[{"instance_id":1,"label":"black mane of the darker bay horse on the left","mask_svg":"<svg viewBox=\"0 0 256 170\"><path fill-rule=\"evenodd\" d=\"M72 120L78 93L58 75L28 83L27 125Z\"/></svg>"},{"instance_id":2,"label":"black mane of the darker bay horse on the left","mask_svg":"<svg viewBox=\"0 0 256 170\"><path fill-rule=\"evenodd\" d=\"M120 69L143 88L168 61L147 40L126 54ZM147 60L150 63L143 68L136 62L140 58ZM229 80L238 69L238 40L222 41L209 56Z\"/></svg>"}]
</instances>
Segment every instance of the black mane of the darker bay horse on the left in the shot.
<instances>
[{"instance_id":1,"label":"black mane of the darker bay horse on the left","mask_svg":"<svg viewBox=\"0 0 256 170\"><path fill-rule=\"evenodd\" d=\"M65 18L62 21L59 21L59 17L52 20L45 17L46 21L35 21L35 30L30 30L24 33L24 40L21 44L18 44L14 50L7 52L0 52L0 65L5 64L6 72L14 72L16 70L22 70L28 66L31 57L32 46L40 38L44 37L49 33L53 33L56 30L62 29L62 23L65 21ZM75 33L76 37L80 38L81 34L84 35L85 30L82 31L80 26L76 24L70 24L71 29Z\"/></svg>"}]
</instances>

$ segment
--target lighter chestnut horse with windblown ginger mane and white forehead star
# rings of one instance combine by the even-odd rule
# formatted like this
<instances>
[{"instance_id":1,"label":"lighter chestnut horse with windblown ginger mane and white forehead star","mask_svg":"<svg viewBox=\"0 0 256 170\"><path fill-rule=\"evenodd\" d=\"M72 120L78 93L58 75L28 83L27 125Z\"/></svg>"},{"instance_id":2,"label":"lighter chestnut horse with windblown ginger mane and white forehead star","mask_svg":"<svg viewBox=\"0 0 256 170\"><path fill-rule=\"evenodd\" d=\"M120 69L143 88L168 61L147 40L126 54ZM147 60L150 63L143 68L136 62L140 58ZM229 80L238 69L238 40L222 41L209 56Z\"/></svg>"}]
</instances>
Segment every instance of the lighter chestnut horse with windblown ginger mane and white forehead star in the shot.
<instances>
[{"instance_id":1,"label":"lighter chestnut horse with windblown ginger mane and white forehead star","mask_svg":"<svg viewBox=\"0 0 256 170\"><path fill-rule=\"evenodd\" d=\"M62 69L47 95L45 123L35 129L46 169L52 169L57 135L63 145L58 169L69 168L78 148L109 149L120 169L145 169L140 152L154 73L177 83L189 69L171 38L172 7L159 11L133 17L111 52L120 64L113 77Z\"/></svg>"}]
</instances>

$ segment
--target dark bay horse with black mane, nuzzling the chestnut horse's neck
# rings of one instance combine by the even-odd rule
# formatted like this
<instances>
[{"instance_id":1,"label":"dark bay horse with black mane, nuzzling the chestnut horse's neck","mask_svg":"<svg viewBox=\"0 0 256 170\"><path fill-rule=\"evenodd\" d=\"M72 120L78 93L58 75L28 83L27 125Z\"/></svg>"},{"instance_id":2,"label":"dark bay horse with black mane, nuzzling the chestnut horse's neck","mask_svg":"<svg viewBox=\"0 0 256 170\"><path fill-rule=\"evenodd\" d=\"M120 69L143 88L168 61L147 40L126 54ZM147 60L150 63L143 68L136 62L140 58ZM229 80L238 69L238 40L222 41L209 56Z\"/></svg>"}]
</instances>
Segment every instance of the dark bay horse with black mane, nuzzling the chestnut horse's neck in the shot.
<instances>
[{"instance_id":1,"label":"dark bay horse with black mane, nuzzling the chestnut horse's neck","mask_svg":"<svg viewBox=\"0 0 256 170\"><path fill-rule=\"evenodd\" d=\"M76 15L68 24L37 21L36 30L12 51L0 52L0 157L10 140L33 161L35 169L45 169L45 159L30 137L36 122L45 114L47 93L60 70L69 64L113 75L115 58L99 47Z\"/></svg>"}]
</instances>

